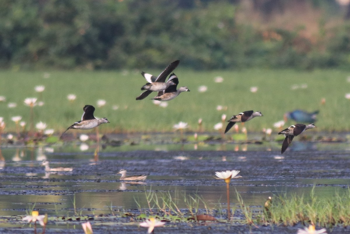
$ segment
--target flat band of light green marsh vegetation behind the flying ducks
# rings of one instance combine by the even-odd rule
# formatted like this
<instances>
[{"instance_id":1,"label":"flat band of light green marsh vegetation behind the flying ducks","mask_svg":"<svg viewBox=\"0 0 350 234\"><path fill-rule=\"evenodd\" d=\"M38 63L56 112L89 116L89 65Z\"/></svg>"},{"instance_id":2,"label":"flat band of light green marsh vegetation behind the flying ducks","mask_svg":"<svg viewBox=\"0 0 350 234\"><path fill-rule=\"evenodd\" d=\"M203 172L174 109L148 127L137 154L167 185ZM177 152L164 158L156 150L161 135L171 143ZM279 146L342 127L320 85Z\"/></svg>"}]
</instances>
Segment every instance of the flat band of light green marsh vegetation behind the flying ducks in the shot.
<instances>
[{"instance_id":1,"label":"flat band of light green marsh vegetation behind the flying ducks","mask_svg":"<svg viewBox=\"0 0 350 234\"><path fill-rule=\"evenodd\" d=\"M159 70L154 73L159 73ZM11 120L16 115L22 116L21 121L27 123L29 130L31 114L23 101L28 97L38 97L34 87L39 84L45 86L41 93L44 105L33 108L34 123L45 122L48 128L55 129L54 134L62 133L71 123L78 121L84 105L96 106L95 115L106 117L111 122L108 126L99 126L101 133L173 132L174 124L180 121L188 123L189 126L184 134L187 131L214 133L214 125L221 121L222 114L229 118L249 109L261 111L264 117L245 125L248 137L249 133L261 132L262 128L272 128L275 134L277 130L273 123L282 120L283 113L293 109L318 109L320 113L317 115L317 131L350 130L350 122L346 121L350 110L341 108L349 104L349 100L345 98L345 94L349 92L347 71L192 71L182 69L180 64L176 75L180 79L179 85L187 86L191 92L180 94L164 108L154 105L149 99L135 100L144 84L144 78L139 72L123 75L121 71L51 71L50 78L43 78L43 72L0 71L0 87L6 87L1 92L6 101L0 105L1 117L6 123L4 132L16 132L16 124ZM215 83L216 76L223 77L223 82ZM100 82L96 82L96 79ZM77 83L81 84L79 88L76 88ZM128 85L126 87L118 83ZM295 85L301 87L301 84L306 84L307 87L292 89ZM198 92L197 88L201 85L208 86L208 91ZM252 86L258 87L256 93L250 92ZM292 99L283 98L286 91L293 96ZM73 101L67 99L67 95L71 93L76 95ZM244 101L237 101L237 97L245 98ZM325 99L325 104L321 104L322 98ZM106 104L97 107L99 99L106 100ZM9 108L9 102L16 102L17 106ZM217 106L225 108L218 110ZM166 121L140 121L153 119L154 116ZM202 119L201 130L198 129L199 119ZM285 126L293 123L289 120ZM74 130L71 131L70 134L73 134ZM83 130L76 132L81 133ZM91 133L93 130L85 132Z\"/></svg>"}]
</instances>

